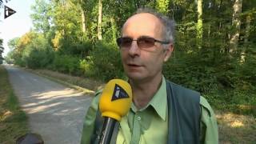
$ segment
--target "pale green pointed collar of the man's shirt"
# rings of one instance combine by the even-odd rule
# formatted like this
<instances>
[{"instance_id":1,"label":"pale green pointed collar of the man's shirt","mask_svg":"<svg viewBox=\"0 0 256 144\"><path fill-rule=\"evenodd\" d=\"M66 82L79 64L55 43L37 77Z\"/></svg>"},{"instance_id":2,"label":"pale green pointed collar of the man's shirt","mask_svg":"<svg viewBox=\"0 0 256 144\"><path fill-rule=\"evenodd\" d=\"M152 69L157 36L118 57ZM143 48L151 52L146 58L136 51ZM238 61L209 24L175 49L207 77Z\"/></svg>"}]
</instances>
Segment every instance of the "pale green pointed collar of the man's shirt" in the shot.
<instances>
[{"instance_id":1,"label":"pale green pointed collar of the man's shirt","mask_svg":"<svg viewBox=\"0 0 256 144\"><path fill-rule=\"evenodd\" d=\"M166 112L167 112L167 93L166 93L166 78L162 76L162 83L159 87L158 91L154 94L154 97L148 103L145 108L142 108L139 111L146 110L148 106L152 106L154 110L157 112L158 116L162 118L162 120L166 121ZM136 106L134 106L134 102L131 106L132 110L136 110Z\"/></svg>"}]
</instances>

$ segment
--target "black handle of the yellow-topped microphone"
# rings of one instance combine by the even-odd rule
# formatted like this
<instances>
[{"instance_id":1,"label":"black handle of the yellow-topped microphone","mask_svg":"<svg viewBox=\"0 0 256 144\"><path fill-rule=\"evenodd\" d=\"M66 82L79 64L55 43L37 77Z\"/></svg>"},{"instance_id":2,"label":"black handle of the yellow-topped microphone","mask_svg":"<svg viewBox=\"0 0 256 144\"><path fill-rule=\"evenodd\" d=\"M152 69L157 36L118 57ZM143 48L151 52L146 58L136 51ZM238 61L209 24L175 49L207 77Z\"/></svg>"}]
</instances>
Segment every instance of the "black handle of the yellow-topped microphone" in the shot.
<instances>
[{"instance_id":1,"label":"black handle of the yellow-topped microphone","mask_svg":"<svg viewBox=\"0 0 256 144\"><path fill-rule=\"evenodd\" d=\"M117 120L115 120L114 118L104 118L99 144L110 144L110 140L114 131L114 125L116 122Z\"/></svg>"}]
</instances>

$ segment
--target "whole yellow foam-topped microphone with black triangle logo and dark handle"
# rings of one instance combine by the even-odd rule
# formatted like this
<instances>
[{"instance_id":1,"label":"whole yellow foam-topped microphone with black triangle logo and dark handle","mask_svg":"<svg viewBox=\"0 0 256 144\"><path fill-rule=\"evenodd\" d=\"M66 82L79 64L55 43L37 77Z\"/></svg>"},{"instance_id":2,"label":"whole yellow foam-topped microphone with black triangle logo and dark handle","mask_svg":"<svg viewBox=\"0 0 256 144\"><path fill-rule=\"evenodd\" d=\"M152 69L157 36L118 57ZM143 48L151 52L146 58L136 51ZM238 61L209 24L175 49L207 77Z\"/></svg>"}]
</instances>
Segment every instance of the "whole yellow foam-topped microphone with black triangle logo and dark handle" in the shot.
<instances>
[{"instance_id":1,"label":"whole yellow foam-topped microphone with black triangle logo and dark handle","mask_svg":"<svg viewBox=\"0 0 256 144\"><path fill-rule=\"evenodd\" d=\"M116 122L130 110L132 90L130 84L121 79L112 79L102 90L99 110L104 117L100 144L109 144Z\"/></svg>"}]
</instances>

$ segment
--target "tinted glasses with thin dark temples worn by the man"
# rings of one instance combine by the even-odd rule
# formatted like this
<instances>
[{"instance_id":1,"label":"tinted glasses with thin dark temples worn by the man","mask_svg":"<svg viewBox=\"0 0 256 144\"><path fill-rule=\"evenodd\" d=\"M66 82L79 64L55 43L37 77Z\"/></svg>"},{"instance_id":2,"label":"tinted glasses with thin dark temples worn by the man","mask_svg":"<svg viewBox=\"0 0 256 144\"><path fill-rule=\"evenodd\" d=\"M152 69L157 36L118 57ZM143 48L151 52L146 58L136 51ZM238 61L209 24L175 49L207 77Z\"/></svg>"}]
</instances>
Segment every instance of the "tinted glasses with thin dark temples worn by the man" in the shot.
<instances>
[{"instance_id":1,"label":"tinted glasses with thin dark temples worn by the man","mask_svg":"<svg viewBox=\"0 0 256 144\"><path fill-rule=\"evenodd\" d=\"M138 39L133 39L130 37L121 37L117 39L118 46L120 48L128 48L131 46L133 41L137 41L137 45L139 48L150 48L154 46L154 42L158 42L161 44L169 44L170 42L162 42L157 39L148 37L148 36L141 36Z\"/></svg>"}]
</instances>

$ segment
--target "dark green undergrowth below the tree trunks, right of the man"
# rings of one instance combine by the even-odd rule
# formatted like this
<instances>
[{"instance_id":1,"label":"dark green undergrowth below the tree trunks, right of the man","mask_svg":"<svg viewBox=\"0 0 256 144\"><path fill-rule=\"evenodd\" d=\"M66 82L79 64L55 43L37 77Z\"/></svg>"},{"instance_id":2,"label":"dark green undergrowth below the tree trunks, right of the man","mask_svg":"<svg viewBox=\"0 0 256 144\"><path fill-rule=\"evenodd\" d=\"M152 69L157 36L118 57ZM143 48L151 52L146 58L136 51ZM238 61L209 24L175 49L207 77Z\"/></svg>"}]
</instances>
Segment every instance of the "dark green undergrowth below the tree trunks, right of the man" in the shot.
<instances>
[{"instance_id":1,"label":"dark green undergrowth below the tree trunks, right of the man","mask_svg":"<svg viewBox=\"0 0 256 144\"><path fill-rule=\"evenodd\" d=\"M256 114L255 60L254 54L246 54L241 62L240 57L214 54L214 49L188 52L180 46L163 73L170 81L198 90L215 108Z\"/></svg>"}]
</instances>

